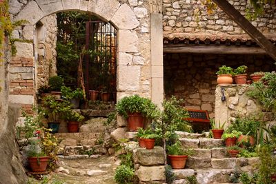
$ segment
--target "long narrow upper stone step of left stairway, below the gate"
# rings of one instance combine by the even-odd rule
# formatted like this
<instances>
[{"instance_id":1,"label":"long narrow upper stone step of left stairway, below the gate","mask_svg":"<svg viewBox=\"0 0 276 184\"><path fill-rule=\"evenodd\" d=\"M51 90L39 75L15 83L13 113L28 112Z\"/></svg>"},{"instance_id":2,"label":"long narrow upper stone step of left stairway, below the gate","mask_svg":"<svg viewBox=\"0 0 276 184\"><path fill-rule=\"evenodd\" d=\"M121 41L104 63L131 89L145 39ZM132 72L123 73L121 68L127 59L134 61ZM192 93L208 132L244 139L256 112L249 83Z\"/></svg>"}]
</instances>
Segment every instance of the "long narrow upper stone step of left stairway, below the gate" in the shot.
<instances>
[{"instance_id":1,"label":"long narrow upper stone step of left stairway, below the gate","mask_svg":"<svg viewBox=\"0 0 276 184\"><path fill-rule=\"evenodd\" d=\"M76 141L99 139L103 135L102 132L76 132L76 133L57 133L57 139L74 139Z\"/></svg>"}]
</instances>

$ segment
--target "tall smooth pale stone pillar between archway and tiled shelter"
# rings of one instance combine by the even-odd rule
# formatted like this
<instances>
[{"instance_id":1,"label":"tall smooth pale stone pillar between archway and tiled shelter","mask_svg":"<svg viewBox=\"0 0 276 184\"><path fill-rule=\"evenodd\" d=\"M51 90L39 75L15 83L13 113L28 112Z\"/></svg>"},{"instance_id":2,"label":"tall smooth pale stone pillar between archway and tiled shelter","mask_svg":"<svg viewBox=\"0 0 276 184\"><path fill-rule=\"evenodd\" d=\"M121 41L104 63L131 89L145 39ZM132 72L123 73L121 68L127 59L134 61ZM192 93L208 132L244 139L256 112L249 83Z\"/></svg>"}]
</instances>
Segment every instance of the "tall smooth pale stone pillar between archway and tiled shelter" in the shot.
<instances>
[{"instance_id":1,"label":"tall smooth pale stone pillar between archway and tiled shelter","mask_svg":"<svg viewBox=\"0 0 276 184\"><path fill-rule=\"evenodd\" d=\"M161 108L164 99L162 14L150 14L151 99Z\"/></svg>"}]
</instances>

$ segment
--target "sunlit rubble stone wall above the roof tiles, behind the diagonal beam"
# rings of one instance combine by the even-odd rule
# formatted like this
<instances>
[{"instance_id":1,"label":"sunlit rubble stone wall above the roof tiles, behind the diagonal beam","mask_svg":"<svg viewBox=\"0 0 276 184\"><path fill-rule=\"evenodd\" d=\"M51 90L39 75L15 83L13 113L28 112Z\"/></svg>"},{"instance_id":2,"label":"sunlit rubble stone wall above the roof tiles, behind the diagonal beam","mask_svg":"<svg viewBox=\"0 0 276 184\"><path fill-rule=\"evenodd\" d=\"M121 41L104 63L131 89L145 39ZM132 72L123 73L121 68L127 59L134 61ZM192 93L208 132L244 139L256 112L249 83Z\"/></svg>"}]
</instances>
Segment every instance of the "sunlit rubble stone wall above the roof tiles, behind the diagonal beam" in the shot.
<instances>
[{"instance_id":1,"label":"sunlit rubble stone wall above the roof tiles, behind the diagonal beam","mask_svg":"<svg viewBox=\"0 0 276 184\"><path fill-rule=\"evenodd\" d=\"M246 14L246 8L251 7L247 0L229 2L243 15ZM276 14L273 8L267 5L265 14L252 21L261 32L275 33ZM163 27L165 32L244 33L242 28L220 9L209 15L201 1L197 0L163 0Z\"/></svg>"}]
</instances>

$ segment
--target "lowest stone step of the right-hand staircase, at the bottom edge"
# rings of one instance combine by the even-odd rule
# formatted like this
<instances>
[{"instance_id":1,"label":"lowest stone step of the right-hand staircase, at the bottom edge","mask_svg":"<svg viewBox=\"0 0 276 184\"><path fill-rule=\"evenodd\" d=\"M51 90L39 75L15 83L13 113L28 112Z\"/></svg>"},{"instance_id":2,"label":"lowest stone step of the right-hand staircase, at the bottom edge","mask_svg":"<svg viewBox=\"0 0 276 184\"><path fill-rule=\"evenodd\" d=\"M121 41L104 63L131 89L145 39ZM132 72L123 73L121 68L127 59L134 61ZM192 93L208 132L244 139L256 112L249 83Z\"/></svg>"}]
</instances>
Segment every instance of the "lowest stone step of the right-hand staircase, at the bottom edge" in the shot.
<instances>
[{"instance_id":1,"label":"lowest stone step of the right-hand staircase, at the bottom edge","mask_svg":"<svg viewBox=\"0 0 276 184\"><path fill-rule=\"evenodd\" d=\"M198 183L208 184L208 183L228 183L230 182L230 174L233 174L235 170L172 170L176 176L174 184L186 183L186 178L188 176L195 175Z\"/></svg>"}]
</instances>

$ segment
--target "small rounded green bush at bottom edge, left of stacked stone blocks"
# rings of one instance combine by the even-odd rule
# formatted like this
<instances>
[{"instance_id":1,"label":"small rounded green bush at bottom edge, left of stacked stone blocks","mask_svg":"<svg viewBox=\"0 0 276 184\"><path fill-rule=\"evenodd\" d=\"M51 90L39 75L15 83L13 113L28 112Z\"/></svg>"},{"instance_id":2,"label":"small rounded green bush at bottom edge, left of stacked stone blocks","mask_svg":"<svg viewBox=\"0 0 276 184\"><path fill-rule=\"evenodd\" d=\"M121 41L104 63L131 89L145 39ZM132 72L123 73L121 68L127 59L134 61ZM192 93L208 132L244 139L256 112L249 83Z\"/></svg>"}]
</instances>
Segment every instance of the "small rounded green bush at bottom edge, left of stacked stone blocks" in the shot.
<instances>
[{"instance_id":1,"label":"small rounded green bush at bottom edge, left of stacked stone blocks","mask_svg":"<svg viewBox=\"0 0 276 184\"><path fill-rule=\"evenodd\" d=\"M115 181L119 184L131 184L135 176L134 169L127 165L119 165L115 171Z\"/></svg>"}]
</instances>

